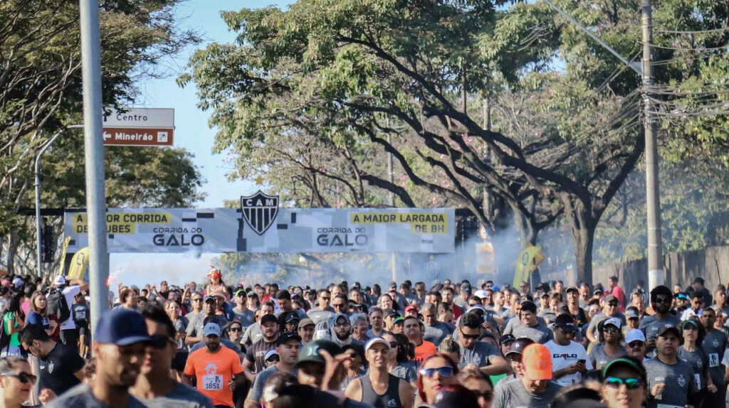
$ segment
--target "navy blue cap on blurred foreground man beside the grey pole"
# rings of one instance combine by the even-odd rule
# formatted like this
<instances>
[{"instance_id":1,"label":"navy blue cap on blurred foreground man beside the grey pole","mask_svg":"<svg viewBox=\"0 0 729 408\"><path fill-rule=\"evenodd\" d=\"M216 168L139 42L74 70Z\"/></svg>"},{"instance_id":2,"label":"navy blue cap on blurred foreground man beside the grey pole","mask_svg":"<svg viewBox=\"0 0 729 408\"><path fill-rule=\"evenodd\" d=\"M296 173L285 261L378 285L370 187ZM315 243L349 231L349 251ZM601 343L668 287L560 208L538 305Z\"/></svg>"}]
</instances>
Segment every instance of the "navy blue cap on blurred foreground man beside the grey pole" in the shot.
<instances>
[{"instance_id":1,"label":"navy blue cap on blurred foreground man beside the grey pole","mask_svg":"<svg viewBox=\"0 0 729 408\"><path fill-rule=\"evenodd\" d=\"M119 308L101 315L94 340L98 343L130 345L152 339L147 332L147 323L140 313Z\"/></svg>"}]
</instances>

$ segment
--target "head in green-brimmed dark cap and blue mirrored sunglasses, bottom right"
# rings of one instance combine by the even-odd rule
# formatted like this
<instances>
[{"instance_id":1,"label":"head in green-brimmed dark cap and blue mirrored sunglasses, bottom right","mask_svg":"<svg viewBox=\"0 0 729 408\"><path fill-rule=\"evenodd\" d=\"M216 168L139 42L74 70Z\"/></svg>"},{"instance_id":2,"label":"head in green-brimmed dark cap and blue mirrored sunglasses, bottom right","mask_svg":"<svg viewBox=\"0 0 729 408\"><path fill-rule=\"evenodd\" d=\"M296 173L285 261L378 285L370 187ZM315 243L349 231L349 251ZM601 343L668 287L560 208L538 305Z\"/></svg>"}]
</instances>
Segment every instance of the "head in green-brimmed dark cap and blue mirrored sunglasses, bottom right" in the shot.
<instances>
[{"instance_id":1,"label":"head in green-brimmed dark cap and blue mirrored sunglasses, bottom right","mask_svg":"<svg viewBox=\"0 0 729 408\"><path fill-rule=\"evenodd\" d=\"M602 398L608 408L641 408L647 396L643 364L633 357L610 361L603 369Z\"/></svg>"}]
</instances>

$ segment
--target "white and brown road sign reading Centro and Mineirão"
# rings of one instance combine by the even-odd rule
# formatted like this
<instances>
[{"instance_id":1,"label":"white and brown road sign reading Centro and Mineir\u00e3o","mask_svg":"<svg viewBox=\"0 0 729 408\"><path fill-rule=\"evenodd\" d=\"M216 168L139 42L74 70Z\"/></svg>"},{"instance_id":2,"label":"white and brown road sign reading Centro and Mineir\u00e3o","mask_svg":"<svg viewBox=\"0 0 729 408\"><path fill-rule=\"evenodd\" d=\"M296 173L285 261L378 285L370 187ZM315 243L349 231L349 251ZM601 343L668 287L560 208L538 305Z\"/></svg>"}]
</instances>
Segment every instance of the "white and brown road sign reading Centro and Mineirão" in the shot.
<instances>
[{"instance_id":1,"label":"white and brown road sign reading Centro and Mineir\u00e3o","mask_svg":"<svg viewBox=\"0 0 729 408\"><path fill-rule=\"evenodd\" d=\"M174 109L104 108L104 145L171 146L174 128Z\"/></svg>"}]
</instances>

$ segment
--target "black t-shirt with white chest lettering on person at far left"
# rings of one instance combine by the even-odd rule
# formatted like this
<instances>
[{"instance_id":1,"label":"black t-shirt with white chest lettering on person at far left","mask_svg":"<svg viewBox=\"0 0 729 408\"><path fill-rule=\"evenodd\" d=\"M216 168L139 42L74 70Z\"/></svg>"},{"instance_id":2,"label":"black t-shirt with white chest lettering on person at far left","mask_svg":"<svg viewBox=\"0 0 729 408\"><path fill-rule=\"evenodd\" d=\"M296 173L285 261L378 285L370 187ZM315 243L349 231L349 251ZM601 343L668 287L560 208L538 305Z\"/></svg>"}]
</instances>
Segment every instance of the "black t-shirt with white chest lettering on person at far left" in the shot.
<instances>
[{"instance_id":1,"label":"black t-shirt with white chest lettering on person at far left","mask_svg":"<svg viewBox=\"0 0 729 408\"><path fill-rule=\"evenodd\" d=\"M46 358L40 361L40 365L40 389L50 388L55 395L60 396L81 383L74 372L84 368L85 361L76 348L56 343Z\"/></svg>"}]
</instances>

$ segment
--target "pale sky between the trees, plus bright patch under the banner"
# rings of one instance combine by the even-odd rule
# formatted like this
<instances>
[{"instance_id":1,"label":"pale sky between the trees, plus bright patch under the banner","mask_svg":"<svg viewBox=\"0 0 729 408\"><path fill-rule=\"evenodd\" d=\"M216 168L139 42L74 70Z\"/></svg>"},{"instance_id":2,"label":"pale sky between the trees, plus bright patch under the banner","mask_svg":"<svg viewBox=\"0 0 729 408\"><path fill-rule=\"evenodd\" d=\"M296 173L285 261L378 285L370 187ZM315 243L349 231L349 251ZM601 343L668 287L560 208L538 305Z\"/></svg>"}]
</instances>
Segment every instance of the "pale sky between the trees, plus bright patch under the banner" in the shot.
<instances>
[{"instance_id":1,"label":"pale sky between the trees, plus bright patch under the banner","mask_svg":"<svg viewBox=\"0 0 729 408\"><path fill-rule=\"evenodd\" d=\"M203 44L188 47L174 60L166 61L165 71L169 73L166 78L138 84L141 95L134 107L175 110L174 145L195 154L195 165L205 180L201 191L206 194L206 198L198 202L195 207L223 207L225 200L240 199L241 196L255 193L258 186L254 180L227 180L226 173L229 172L230 165L224 161L225 154L213 154L211 151L215 130L208 127L209 112L197 107L195 84L180 88L175 82L176 77L184 71L185 64L195 49L203 48L211 42L227 43L235 40L235 33L227 31L227 26L220 18L220 12L271 5L285 8L290 2L282 0L184 2L176 10L180 25L182 28L197 31L203 38ZM113 291L116 288L117 281L128 285L151 283L149 276L154 276L157 284L161 280L179 284L193 279L202 281L210 268L211 258L216 256L218 254L204 254L200 257L182 254L111 254L111 289Z\"/></svg>"}]
</instances>

